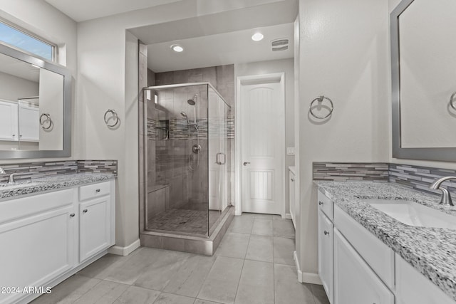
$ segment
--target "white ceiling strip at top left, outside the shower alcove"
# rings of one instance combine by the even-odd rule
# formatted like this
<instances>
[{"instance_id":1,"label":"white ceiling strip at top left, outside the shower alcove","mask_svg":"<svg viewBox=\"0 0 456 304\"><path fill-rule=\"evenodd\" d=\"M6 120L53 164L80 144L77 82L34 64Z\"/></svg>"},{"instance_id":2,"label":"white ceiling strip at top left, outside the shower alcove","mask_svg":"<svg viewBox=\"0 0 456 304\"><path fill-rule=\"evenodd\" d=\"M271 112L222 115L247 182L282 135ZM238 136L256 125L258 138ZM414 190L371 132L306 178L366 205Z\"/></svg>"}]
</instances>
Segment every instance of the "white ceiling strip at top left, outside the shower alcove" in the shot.
<instances>
[{"instance_id":1,"label":"white ceiling strip at top left, outside the shower alcove","mask_svg":"<svg viewBox=\"0 0 456 304\"><path fill-rule=\"evenodd\" d=\"M181 0L45 0L74 21L121 14Z\"/></svg>"}]
</instances>

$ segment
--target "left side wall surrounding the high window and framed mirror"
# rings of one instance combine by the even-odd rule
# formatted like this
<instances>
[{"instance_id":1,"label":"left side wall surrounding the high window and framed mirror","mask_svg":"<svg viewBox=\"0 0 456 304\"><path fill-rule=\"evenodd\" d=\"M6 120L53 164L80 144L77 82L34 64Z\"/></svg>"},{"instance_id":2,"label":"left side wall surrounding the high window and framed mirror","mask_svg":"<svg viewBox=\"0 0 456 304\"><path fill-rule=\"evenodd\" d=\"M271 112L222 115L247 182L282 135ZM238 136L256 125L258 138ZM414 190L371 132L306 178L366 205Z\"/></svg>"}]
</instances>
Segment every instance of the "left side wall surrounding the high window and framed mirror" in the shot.
<instances>
[{"instance_id":1,"label":"left side wall surrounding the high window and framed mirror","mask_svg":"<svg viewBox=\"0 0 456 304\"><path fill-rule=\"evenodd\" d=\"M66 65L73 75L73 136L71 157L80 158L79 148L79 108L76 102L76 22L45 1L38 0L0 0L0 18L56 43L59 48L58 63ZM53 159L0 159L1 163L48 161Z\"/></svg>"}]
</instances>

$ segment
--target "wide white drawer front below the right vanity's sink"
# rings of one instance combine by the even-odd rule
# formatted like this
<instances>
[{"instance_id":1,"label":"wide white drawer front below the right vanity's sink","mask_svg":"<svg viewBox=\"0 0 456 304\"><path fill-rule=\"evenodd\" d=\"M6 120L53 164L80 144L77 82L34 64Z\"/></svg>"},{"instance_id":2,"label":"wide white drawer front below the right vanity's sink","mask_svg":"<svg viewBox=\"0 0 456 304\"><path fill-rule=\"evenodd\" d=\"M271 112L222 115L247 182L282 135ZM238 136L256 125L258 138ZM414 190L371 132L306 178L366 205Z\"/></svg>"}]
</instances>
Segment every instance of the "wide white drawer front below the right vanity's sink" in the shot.
<instances>
[{"instance_id":1,"label":"wide white drawer front below the right vanity's sink","mask_svg":"<svg viewBox=\"0 0 456 304\"><path fill-rule=\"evenodd\" d=\"M394 289L394 251L339 206L334 206L334 226L341 231L383 282Z\"/></svg>"}]
</instances>

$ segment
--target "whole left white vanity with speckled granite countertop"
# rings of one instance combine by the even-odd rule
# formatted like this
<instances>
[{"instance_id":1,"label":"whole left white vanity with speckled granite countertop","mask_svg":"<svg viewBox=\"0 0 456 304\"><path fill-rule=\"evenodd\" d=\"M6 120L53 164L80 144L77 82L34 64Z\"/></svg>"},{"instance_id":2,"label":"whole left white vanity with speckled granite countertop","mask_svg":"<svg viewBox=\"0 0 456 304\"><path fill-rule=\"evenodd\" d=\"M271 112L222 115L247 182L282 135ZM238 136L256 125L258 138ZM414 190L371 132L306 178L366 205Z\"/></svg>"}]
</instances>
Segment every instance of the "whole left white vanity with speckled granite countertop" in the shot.
<instances>
[{"instance_id":1,"label":"whole left white vanity with speckled granite countertop","mask_svg":"<svg viewBox=\"0 0 456 304\"><path fill-rule=\"evenodd\" d=\"M46 293L115 243L115 176L1 184L0 243L0 303L27 303Z\"/></svg>"}]
</instances>

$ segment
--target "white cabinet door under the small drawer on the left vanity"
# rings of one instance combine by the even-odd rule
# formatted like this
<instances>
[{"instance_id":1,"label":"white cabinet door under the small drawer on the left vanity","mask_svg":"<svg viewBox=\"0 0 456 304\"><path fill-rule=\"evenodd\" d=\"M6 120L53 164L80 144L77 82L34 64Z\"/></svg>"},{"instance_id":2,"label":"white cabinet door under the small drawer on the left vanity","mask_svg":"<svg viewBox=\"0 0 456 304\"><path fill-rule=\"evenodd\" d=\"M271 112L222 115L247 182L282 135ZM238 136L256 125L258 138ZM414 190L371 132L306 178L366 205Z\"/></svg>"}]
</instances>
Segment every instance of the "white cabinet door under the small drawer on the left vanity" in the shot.
<instances>
[{"instance_id":1,"label":"white cabinet door under the small drawer on the left vanity","mask_svg":"<svg viewBox=\"0 0 456 304\"><path fill-rule=\"evenodd\" d=\"M110 196L79 205L79 261L110 246Z\"/></svg>"}]
</instances>

